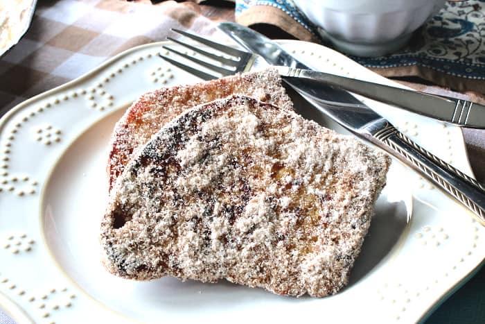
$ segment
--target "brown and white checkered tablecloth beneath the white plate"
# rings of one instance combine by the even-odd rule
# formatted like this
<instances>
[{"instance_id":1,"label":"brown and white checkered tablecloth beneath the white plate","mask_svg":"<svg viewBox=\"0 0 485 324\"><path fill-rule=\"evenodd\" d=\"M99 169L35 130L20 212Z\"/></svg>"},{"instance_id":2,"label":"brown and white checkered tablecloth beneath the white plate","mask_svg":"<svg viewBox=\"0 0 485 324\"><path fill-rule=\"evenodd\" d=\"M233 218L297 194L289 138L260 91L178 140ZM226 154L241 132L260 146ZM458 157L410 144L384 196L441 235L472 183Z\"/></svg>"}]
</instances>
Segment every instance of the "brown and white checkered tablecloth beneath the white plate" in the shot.
<instances>
[{"instance_id":1,"label":"brown and white checkered tablecloth beneath the white plate","mask_svg":"<svg viewBox=\"0 0 485 324\"><path fill-rule=\"evenodd\" d=\"M85 74L116 53L164 40L169 28L224 37L196 6L175 1L149 6L120 0L39 0L28 32L0 59L0 116L21 101ZM465 135L470 162L477 176L485 180L485 132L467 130ZM474 278L482 290L484 273ZM454 308L447 305L447 309ZM12 322L0 311L0 324L5 323Z\"/></svg>"}]
</instances>

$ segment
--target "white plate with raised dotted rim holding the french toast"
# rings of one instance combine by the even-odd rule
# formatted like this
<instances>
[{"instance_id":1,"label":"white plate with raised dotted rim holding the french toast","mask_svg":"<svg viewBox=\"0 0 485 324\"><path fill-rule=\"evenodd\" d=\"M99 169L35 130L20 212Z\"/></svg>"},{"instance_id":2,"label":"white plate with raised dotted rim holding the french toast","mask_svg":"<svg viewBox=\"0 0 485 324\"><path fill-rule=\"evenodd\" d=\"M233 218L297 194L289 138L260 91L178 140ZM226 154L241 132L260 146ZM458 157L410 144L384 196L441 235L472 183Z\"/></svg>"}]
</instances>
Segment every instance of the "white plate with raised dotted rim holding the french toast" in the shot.
<instances>
[{"instance_id":1,"label":"white plate with raised dotted rim holding the french toast","mask_svg":"<svg viewBox=\"0 0 485 324\"><path fill-rule=\"evenodd\" d=\"M392 84L322 46L282 44L318 69ZM1 119L0 307L19 323L409 323L483 261L482 226L394 162L349 287L335 296L288 298L224 281L133 282L107 274L99 262L98 227L114 123L143 92L197 81L159 59L160 49L160 43L130 49ZM471 173L461 130L366 102L418 144ZM405 205L396 201L407 201L409 210L411 193L414 212L406 224Z\"/></svg>"}]
</instances>

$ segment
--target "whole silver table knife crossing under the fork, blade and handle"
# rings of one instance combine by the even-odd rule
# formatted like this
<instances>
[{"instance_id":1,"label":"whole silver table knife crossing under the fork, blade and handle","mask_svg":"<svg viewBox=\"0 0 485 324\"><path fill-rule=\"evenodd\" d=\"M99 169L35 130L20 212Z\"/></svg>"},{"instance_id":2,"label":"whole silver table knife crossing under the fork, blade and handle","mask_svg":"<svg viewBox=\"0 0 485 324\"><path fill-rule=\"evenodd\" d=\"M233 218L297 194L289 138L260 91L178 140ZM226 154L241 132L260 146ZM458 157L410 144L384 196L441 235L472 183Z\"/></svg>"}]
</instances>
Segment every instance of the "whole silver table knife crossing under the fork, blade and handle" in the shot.
<instances>
[{"instance_id":1,"label":"whole silver table knife crossing under the fork, blade and handle","mask_svg":"<svg viewBox=\"0 0 485 324\"><path fill-rule=\"evenodd\" d=\"M293 58L279 44L250 28L231 22L223 22L219 24L219 28L245 49L262 56L270 65L309 69ZM283 80L302 94L319 111L340 123L351 133L379 146L418 171L436 187L456 198L473 212L482 225L485 225L485 187L479 182L412 142L384 117L348 92L322 83L317 88L314 82L305 78ZM319 98L319 101L312 98ZM340 105L329 103L336 101Z\"/></svg>"}]
</instances>

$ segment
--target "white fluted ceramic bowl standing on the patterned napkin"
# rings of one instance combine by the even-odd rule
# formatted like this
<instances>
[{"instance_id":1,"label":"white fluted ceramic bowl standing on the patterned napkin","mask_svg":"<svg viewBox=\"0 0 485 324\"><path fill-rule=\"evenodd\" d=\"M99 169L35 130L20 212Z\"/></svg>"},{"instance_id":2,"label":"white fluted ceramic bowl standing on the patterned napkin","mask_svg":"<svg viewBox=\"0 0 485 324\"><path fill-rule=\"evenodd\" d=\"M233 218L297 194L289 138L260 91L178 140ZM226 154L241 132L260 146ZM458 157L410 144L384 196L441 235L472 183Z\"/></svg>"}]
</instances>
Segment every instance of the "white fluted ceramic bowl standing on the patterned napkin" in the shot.
<instances>
[{"instance_id":1,"label":"white fluted ceramic bowl standing on the patterned napkin","mask_svg":"<svg viewBox=\"0 0 485 324\"><path fill-rule=\"evenodd\" d=\"M446 0L294 0L346 53L382 56L405 45Z\"/></svg>"}]
</instances>

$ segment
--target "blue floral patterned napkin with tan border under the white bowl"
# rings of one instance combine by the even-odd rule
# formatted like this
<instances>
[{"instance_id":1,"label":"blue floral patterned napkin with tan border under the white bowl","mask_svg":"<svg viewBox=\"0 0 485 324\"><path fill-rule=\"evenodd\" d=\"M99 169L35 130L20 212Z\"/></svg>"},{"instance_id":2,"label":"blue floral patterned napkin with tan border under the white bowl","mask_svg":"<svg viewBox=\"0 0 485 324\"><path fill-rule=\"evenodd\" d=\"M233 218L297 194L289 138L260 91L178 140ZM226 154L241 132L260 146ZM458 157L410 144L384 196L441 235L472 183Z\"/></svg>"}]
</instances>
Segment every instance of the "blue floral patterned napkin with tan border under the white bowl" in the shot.
<instances>
[{"instance_id":1,"label":"blue floral patterned napkin with tan border under the white bowl","mask_svg":"<svg viewBox=\"0 0 485 324\"><path fill-rule=\"evenodd\" d=\"M255 28L270 24L298 40L332 46L291 0L236 0L236 21ZM379 58L351 58L383 76L418 76L460 92L485 94L484 36L484 0L448 1L404 49Z\"/></svg>"}]
</instances>

